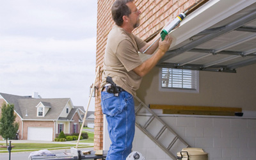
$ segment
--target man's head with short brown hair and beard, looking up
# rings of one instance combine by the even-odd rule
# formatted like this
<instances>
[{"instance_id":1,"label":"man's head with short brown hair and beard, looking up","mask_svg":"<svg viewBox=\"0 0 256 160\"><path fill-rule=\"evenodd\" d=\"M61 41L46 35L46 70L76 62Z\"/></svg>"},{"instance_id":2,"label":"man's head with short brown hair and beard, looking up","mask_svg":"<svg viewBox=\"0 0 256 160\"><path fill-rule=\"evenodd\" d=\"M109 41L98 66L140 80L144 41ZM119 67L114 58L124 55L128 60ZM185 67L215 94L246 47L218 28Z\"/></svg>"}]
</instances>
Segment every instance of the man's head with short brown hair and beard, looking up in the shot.
<instances>
[{"instance_id":1,"label":"man's head with short brown hair and beard, looking up","mask_svg":"<svg viewBox=\"0 0 256 160\"><path fill-rule=\"evenodd\" d=\"M140 25L140 10L138 10L133 3L134 0L116 0L111 8L112 12L112 18L115 21L115 24L117 26L122 26L124 23L124 16L129 17L132 14L136 14L137 17L135 17L136 22L133 22L132 24L133 28L136 28Z\"/></svg>"}]
</instances>

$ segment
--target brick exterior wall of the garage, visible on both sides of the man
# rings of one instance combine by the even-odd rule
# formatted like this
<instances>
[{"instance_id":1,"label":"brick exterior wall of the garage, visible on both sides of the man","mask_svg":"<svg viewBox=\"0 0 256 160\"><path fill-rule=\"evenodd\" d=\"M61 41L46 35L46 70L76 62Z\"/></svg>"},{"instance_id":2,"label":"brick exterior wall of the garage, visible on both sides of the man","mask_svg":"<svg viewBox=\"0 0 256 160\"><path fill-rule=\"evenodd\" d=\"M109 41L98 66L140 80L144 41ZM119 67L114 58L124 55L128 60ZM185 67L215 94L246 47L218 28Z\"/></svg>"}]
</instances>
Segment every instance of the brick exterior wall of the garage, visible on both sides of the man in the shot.
<instances>
[{"instance_id":1,"label":"brick exterior wall of the garage, visible on both sides of the man","mask_svg":"<svg viewBox=\"0 0 256 160\"><path fill-rule=\"evenodd\" d=\"M184 12L189 6L192 6L200 0L141 0L134 1L138 9L142 12L141 24L133 33L147 40L149 36L154 35L163 28L164 24L175 19L180 12ZM114 25L111 18L111 5L114 0L98 1L97 13L97 50L96 67L100 66L100 74L97 77L96 84L101 82L104 50L107 36ZM94 149L99 150L103 147L103 115L100 106L100 90L95 97L95 135Z\"/></svg>"}]
</instances>

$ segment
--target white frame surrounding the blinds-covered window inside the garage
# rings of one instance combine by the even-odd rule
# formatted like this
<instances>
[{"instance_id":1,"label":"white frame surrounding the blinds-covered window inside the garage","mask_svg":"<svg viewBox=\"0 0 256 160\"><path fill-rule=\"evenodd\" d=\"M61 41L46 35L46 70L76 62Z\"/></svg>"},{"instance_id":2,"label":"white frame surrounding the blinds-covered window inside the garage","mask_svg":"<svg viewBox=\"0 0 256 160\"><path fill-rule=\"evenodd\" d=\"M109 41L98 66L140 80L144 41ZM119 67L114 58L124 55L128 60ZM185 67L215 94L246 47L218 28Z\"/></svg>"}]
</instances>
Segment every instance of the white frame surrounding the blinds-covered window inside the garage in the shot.
<instances>
[{"instance_id":1,"label":"white frame surrounding the blinds-covered window inside the garage","mask_svg":"<svg viewBox=\"0 0 256 160\"><path fill-rule=\"evenodd\" d=\"M173 69L173 68L170 68ZM191 70L193 72L193 77L195 78L195 88L163 88L162 87L162 68L159 68L159 91L163 92L186 92L186 93L199 93L199 71Z\"/></svg>"}]
</instances>

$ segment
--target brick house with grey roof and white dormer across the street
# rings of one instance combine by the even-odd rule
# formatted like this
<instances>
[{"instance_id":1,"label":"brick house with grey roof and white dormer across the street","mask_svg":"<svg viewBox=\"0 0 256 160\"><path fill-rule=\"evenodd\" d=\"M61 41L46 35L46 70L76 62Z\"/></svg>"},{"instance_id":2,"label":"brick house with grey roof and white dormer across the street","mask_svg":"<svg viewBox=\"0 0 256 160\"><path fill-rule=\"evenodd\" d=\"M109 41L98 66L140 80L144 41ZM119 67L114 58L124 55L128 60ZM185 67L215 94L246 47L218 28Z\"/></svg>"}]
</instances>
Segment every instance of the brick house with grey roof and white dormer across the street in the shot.
<instances>
[{"instance_id":1,"label":"brick house with grey roof and white dormer across the street","mask_svg":"<svg viewBox=\"0 0 256 160\"><path fill-rule=\"evenodd\" d=\"M0 93L0 106L3 103L14 104L20 140L53 141L61 131L79 133L83 122L83 107L75 107L69 98L42 99L38 93L33 96Z\"/></svg>"}]
</instances>

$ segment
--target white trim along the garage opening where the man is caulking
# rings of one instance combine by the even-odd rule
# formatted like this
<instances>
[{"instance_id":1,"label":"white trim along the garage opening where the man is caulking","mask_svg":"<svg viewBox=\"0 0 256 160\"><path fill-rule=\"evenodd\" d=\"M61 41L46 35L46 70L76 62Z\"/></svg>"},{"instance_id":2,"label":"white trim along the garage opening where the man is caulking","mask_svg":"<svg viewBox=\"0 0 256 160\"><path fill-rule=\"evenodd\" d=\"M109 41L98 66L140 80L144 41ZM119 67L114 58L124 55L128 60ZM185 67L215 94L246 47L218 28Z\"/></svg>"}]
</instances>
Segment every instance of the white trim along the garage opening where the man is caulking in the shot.
<instances>
[{"instance_id":1,"label":"white trim along the garage opening where the man is caulking","mask_svg":"<svg viewBox=\"0 0 256 160\"><path fill-rule=\"evenodd\" d=\"M179 28L170 33L173 37L173 42L170 48L184 42L184 40L187 40L191 36L200 33L200 31L204 31L204 29L207 29L221 20L230 17L230 15L243 10L253 3L255 3L255 0L208 1L182 20Z\"/></svg>"}]
</instances>

